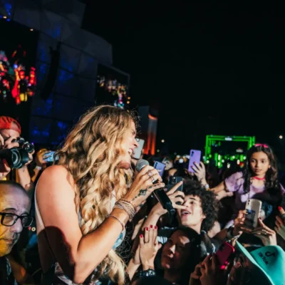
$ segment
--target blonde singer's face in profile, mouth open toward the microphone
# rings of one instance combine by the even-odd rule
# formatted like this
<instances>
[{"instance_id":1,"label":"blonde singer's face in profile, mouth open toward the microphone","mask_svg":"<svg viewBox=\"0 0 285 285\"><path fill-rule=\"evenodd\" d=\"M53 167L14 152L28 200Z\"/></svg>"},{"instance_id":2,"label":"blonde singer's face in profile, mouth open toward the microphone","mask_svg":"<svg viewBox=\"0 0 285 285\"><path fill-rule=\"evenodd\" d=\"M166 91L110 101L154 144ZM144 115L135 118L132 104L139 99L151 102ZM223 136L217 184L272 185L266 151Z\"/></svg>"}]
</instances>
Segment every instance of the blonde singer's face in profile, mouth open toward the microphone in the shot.
<instances>
[{"instance_id":1,"label":"blonde singer's face in profile, mouth open toward the microphone","mask_svg":"<svg viewBox=\"0 0 285 285\"><path fill-rule=\"evenodd\" d=\"M130 161L132 159L133 151L135 148L138 147L138 142L135 140L135 135L136 135L136 130L135 130L135 123L133 120L130 123L130 128L127 131L125 138L123 138L123 141L120 145L120 147L123 149L125 152L121 156L120 160L120 168L124 169L129 169L130 168Z\"/></svg>"}]
</instances>

